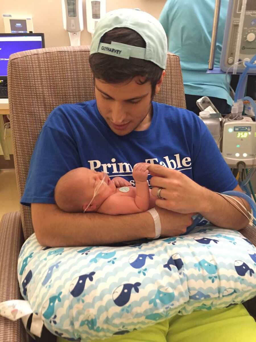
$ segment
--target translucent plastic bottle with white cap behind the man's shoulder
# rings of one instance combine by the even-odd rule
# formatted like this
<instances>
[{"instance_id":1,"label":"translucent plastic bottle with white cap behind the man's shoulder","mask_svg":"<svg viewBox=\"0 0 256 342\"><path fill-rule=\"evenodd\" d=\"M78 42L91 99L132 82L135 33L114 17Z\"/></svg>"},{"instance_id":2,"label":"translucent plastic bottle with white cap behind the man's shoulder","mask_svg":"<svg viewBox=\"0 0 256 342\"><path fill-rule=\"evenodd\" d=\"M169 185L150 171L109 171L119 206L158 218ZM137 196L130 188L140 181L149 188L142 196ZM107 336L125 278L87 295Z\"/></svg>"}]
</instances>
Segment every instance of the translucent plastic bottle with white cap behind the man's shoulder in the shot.
<instances>
[{"instance_id":1,"label":"translucent plastic bottle with white cap behind the man's shoulder","mask_svg":"<svg viewBox=\"0 0 256 342\"><path fill-rule=\"evenodd\" d=\"M221 140L221 124L222 116L219 113L210 113L207 110L200 111L199 118L205 123L209 131L211 132L216 144L219 147Z\"/></svg>"}]
</instances>

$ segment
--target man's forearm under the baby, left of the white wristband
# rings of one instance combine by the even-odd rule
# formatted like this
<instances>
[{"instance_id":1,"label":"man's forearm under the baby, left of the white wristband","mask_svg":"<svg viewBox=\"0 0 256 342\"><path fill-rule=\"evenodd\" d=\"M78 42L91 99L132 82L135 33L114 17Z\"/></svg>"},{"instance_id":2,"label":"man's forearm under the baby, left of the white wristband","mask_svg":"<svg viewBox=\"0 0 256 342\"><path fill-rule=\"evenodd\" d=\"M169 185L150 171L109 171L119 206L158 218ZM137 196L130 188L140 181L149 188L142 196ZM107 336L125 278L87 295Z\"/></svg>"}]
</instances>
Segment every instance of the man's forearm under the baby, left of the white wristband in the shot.
<instances>
[{"instance_id":1,"label":"man's forearm under the baby, left of the white wristband","mask_svg":"<svg viewBox=\"0 0 256 342\"><path fill-rule=\"evenodd\" d=\"M112 216L66 213L54 204L32 203L32 221L43 246L98 246L154 235L150 214Z\"/></svg>"}]
</instances>

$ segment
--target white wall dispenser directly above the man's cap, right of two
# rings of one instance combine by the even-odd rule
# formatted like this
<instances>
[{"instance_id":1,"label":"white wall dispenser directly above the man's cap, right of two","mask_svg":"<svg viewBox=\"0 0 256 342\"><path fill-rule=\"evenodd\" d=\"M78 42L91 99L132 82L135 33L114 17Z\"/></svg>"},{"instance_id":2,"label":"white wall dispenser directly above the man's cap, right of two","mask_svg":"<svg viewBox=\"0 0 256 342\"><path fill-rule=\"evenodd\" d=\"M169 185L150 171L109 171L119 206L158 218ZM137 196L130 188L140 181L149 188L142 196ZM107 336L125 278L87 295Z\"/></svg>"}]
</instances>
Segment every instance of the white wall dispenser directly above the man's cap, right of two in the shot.
<instances>
[{"instance_id":1,"label":"white wall dispenser directly above the man's cap, right of two","mask_svg":"<svg viewBox=\"0 0 256 342\"><path fill-rule=\"evenodd\" d=\"M99 19L106 13L106 0L86 0L87 31L94 34Z\"/></svg>"}]
</instances>

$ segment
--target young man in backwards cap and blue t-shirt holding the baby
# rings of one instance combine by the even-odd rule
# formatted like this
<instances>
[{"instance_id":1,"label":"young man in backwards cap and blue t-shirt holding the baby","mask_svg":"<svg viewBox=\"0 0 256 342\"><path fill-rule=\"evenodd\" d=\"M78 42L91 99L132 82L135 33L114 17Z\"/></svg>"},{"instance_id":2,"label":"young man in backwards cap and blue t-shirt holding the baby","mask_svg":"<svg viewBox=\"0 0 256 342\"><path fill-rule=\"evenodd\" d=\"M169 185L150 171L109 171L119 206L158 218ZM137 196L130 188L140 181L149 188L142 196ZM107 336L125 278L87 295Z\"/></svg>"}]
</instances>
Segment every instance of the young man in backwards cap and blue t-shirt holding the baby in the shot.
<instances>
[{"instance_id":1,"label":"young man in backwards cap and blue t-shirt holding the baby","mask_svg":"<svg viewBox=\"0 0 256 342\"><path fill-rule=\"evenodd\" d=\"M167 57L160 23L136 10L110 12L97 24L90 53L96 101L55 108L31 159L21 202L31 203L38 241L52 247L91 246L177 236L186 231L195 212L225 228L246 226L247 219L214 193L241 189L203 122L187 110L152 102L165 76ZM69 170L87 167L110 178L123 176L133 185L132 168L138 162L150 162L149 171L155 175L151 185L159 207L154 212L111 216L57 208L54 188ZM233 327L241 316L243 335L239 323ZM223 320L225 329L220 332ZM202 341L234 341L240 336L239 341L252 342L253 324L238 305L174 317L120 341L198 341L199 336ZM197 330L190 330L196 325Z\"/></svg>"}]
</instances>

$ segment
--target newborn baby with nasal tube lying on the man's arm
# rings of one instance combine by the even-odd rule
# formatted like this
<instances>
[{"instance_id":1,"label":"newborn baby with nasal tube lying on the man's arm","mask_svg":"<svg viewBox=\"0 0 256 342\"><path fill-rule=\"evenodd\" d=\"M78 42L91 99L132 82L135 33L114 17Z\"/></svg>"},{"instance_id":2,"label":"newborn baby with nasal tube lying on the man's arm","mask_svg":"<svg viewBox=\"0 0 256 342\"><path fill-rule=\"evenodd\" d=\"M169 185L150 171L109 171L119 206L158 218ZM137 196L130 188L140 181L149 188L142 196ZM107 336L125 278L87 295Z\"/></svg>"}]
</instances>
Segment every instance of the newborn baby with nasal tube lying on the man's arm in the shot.
<instances>
[{"instance_id":1,"label":"newborn baby with nasal tube lying on the man's arm","mask_svg":"<svg viewBox=\"0 0 256 342\"><path fill-rule=\"evenodd\" d=\"M134 166L135 187L122 177L110 180L104 172L73 169L56 184L56 204L67 212L94 211L110 215L133 214L154 208L156 197L147 183L149 166L148 163Z\"/></svg>"}]
</instances>

